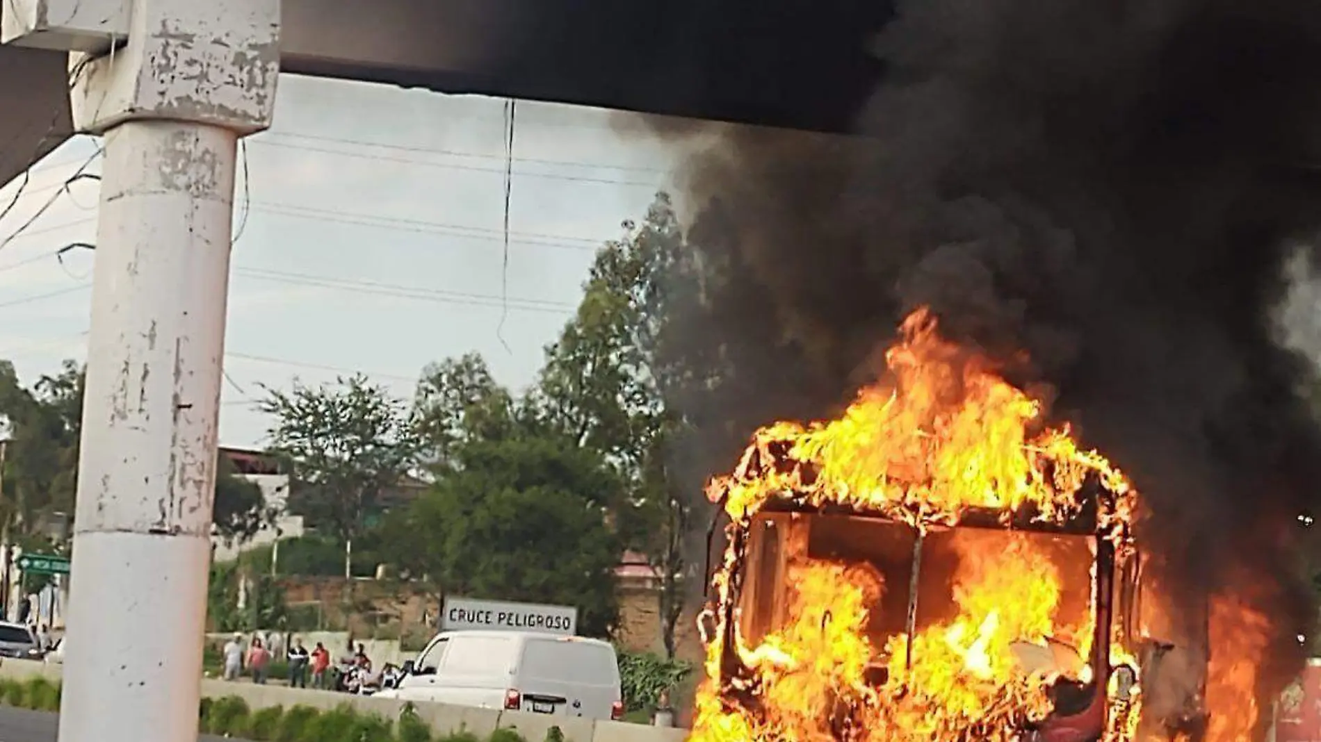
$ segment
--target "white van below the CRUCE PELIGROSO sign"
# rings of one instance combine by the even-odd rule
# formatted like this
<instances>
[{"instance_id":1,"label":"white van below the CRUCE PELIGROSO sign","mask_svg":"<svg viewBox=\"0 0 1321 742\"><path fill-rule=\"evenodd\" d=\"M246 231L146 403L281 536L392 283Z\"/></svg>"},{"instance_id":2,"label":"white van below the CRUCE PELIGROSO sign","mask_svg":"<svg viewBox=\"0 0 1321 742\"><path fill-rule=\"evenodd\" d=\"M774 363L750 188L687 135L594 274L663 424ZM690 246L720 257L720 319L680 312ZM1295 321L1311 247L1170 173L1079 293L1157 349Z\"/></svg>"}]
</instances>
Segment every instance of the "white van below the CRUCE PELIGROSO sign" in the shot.
<instances>
[{"instance_id":1,"label":"white van below the CRUCE PELIGROSO sign","mask_svg":"<svg viewBox=\"0 0 1321 742\"><path fill-rule=\"evenodd\" d=\"M530 631L444 631L382 697L585 718L624 716L614 647Z\"/></svg>"}]
</instances>

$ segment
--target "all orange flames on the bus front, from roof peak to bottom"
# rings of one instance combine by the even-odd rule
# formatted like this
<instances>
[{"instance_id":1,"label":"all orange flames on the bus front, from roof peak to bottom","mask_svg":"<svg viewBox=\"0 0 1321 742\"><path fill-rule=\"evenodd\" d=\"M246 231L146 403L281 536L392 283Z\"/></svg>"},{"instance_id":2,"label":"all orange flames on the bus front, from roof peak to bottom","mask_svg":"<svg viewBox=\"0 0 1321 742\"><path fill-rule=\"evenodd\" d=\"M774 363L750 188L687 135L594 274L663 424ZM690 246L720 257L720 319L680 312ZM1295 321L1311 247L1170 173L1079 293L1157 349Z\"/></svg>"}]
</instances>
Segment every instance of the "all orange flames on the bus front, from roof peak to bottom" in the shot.
<instances>
[{"instance_id":1,"label":"all orange flames on the bus front, from roof peak to bottom","mask_svg":"<svg viewBox=\"0 0 1321 742\"><path fill-rule=\"evenodd\" d=\"M1048 689L1061 676L1090 677L1077 655L1073 667L1033 667L1020 654L1054 656L1052 640L1067 639L1085 658L1095 626L1091 610L1066 615L1065 591L1079 586L1063 578L1036 533L988 531L1001 537L993 548L955 539L952 614L884 636L869 622L882 594L900 586L885 585L865 562L797 549L779 588L782 621L754 643L742 636L742 611L757 609L738 602L738 535L773 503L843 508L925 535L971 511L1005 525L1024 514L1067 523L1086 510L1092 481L1106 503L1096 539L1125 547L1137 494L1118 469L1081 449L1067 428L1045 425L1040 400L983 356L942 339L927 310L914 312L901 330L886 354L886 383L864 389L838 420L758 430L736 470L708 486L732 519L731 544L713 578L707 618L715 630L690 739L1009 742L1052 713ZM1081 582L1090 597L1086 574ZM734 676L727 647L741 668ZM1129 659L1124 647L1111 654ZM1107 739L1132 738L1136 706L1136 696L1115 706L1122 713L1111 714Z\"/></svg>"}]
</instances>

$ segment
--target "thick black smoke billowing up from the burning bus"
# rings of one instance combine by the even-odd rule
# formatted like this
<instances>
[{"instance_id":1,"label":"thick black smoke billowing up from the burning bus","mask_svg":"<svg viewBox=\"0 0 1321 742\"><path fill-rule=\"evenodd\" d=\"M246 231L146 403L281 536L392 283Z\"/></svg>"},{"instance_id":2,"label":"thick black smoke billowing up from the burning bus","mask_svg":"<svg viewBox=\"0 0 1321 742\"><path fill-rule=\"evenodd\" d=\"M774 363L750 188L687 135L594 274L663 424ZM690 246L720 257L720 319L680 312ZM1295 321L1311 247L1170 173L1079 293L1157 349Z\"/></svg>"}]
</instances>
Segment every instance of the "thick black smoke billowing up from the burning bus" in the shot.
<instances>
[{"instance_id":1,"label":"thick black smoke billowing up from the burning bus","mask_svg":"<svg viewBox=\"0 0 1321 742\"><path fill-rule=\"evenodd\" d=\"M1321 4L906 0L875 45L852 136L660 132L696 151L672 351L719 368L680 399L701 467L838 412L929 305L1129 473L1186 595L1271 588L1289 672L1321 432L1273 312L1321 220Z\"/></svg>"}]
</instances>

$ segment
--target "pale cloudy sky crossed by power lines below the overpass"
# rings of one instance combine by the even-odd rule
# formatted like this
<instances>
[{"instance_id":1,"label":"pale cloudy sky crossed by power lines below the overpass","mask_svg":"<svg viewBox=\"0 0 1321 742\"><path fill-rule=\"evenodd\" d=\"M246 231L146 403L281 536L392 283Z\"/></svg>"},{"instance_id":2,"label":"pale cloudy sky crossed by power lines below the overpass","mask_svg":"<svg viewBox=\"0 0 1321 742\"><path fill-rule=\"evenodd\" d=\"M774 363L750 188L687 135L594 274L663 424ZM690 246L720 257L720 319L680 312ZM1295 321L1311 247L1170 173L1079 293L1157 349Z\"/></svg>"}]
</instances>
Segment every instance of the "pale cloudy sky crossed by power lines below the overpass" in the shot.
<instances>
[{"instance_id":1,"label":"pale cloudy sky crossed by power lines below the overpass","mask_svg":"<svg viewBox=\"0 0 1321 742\"><path fill-rule=\"evenodd\" d=\"M481 353L531 384L594 251L671 185L674 153L609 111L519 102L503 255L505 102L281 75L239 153L221 444L262 446L254 401L363 372L411 397L421 368ZM0 187L0 359L25 383L85 358L99 140ZM90 162L90 164L89 164ZM9 239L12 238L12 239ZM502 298L507 296L507 302ZM507 308L507 309L506 309ZM502 316L505 317L502 325Z\"/></svg>"}]
</instances>

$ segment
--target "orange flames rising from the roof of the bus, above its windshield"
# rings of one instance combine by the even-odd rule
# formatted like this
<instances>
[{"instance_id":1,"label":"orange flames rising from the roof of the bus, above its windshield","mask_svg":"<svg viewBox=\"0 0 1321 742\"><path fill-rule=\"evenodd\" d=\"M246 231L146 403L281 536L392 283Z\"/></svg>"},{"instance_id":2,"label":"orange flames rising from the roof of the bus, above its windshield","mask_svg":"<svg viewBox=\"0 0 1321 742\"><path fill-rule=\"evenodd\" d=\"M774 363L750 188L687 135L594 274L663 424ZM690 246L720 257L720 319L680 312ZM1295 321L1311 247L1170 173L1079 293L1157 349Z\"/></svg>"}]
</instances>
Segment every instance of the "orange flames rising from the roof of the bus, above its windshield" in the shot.
<instances>
[{"instance_id":1,"label":"orange flames rising from the roof of the bus, above its windshield","mask_svg":"<svg viewBox=\"0 0 1321 742\"><path fill-rule=\"evenodd\" d=\"M724 500L734 520L786 491L807 504L849 504L914 524L952 524L974 507L1009 516L1034 506L1041 519L1057 520L1077 510L1083 481L1095 474L1122 495L1119 514L1129 518L1123 474L1079 449L1067 426L1040 426L1040 401L943 341L926 309L901 331L885 355L893 386L864 389L839 420L758 430L734 474L707 487L712 502ZM775 444L787 444L782 457L769 453ZM775 459L781 466L769 466Z\"/></svg>"}]
</instances>

